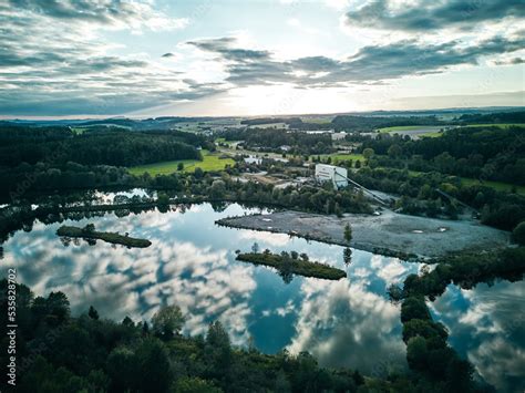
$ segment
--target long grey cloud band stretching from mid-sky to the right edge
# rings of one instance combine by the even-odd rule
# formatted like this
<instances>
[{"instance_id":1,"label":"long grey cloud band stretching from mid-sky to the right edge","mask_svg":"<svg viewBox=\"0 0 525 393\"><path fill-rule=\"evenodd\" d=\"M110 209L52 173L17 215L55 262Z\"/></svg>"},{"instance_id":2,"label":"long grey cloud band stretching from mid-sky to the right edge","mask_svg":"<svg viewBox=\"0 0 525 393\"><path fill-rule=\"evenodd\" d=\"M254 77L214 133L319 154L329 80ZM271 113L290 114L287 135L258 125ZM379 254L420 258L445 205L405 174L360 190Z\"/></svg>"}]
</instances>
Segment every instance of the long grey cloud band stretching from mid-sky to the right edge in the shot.
<instances>
[{"instance_id":1,"label":"long grey cloud band stretching from mid-sky to the right edge","mask_svg":"<svg viewBox=\"0 0 525 393\"><path fill-rule=\"evenodd\" d=\"M308 56L279 61L269 51L239 48L231 37L188 44L218 55L228 73L226 81L238 86L289 83L299 87L327 87L378 83L440 73L455 65L474 65L484 56L519 51L525 45L525 35L522 31L509 37L494 35L470 45L456 40L444 43L401 40L367 45L341 60Z\"/></svg>"}]
</instances>

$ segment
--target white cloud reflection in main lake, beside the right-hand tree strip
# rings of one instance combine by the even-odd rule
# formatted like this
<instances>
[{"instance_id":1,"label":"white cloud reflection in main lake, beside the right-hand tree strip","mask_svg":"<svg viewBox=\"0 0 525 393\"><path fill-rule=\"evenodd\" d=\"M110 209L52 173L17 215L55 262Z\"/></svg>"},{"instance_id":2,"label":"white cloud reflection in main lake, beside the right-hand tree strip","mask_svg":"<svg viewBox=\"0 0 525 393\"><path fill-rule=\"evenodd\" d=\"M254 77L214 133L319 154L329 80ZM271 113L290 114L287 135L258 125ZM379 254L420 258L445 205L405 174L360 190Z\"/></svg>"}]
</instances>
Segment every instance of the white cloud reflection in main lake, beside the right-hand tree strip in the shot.
<instances>
[{"instance_id":1,"label":"white cloud reflection in main lake, beside the right-hand tree strip","mask_svg":"<svg viewBox=\"0 0 525 393\"><path fill-rule=\"evenodd\" d=\"M359 369L372 376L406 368L399 310L361 280L305 281L301 291L291 353L308 351L322 365Z\"/></svg>"}]
</instances>

